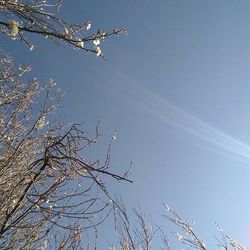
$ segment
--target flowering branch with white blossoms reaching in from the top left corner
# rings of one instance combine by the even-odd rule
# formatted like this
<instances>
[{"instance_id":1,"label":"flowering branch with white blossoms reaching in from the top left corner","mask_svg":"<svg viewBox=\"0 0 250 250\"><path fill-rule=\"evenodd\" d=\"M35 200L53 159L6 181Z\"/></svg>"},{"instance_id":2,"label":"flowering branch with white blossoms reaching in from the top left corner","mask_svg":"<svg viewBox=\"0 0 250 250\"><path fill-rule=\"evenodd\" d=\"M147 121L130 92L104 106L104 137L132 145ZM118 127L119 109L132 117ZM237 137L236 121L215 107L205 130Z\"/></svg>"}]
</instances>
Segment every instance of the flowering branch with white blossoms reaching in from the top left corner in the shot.
<instances>
[{"instance_id":1,"label":"flowering branch with white blossoms reaching in from the top left corner","mask_svg":"<svg viewBox=\"0 0 250 250\"><path fill-rule=\"evenodd\" d=\"M12 39L20 39L30 50L35 47L29 35L37 34L57 44L70 45L86 52L102 56L101 42L110 37L126 34L124 28L111 32L90 32L91 23L69 24L59 17L61 0L0 0L0 32Z\"/></svg>"}]
</instances>

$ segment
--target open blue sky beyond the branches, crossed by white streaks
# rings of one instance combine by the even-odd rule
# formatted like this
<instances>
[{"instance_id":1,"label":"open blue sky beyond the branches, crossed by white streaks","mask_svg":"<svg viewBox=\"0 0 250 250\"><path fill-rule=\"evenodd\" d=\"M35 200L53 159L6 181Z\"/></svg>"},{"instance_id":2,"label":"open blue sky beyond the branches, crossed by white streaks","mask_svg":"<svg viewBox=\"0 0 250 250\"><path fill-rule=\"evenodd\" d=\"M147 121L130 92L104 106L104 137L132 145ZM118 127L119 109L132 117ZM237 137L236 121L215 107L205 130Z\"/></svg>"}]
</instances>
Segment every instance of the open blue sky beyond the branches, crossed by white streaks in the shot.
<instances>
[{"instance_id":1,"label":"open blue sky beyond the branches, crossed by white streaks","mask_svg":"<svg viewBox=\"0 0 250 250\"><path fill-rule=\"evenodd\" d=\"M36 38L32 53L1 46L55 79L61 117L90 131L101 119L102 145L117 130L112 166L133 161L134 183L110 187L128 207L139 202L162 225L167 202L212 248L214 222L250 248L249 13L247 0L65 0L71 23L127 29L101 44L106 61Z\"/></svg>"}]
</instances>

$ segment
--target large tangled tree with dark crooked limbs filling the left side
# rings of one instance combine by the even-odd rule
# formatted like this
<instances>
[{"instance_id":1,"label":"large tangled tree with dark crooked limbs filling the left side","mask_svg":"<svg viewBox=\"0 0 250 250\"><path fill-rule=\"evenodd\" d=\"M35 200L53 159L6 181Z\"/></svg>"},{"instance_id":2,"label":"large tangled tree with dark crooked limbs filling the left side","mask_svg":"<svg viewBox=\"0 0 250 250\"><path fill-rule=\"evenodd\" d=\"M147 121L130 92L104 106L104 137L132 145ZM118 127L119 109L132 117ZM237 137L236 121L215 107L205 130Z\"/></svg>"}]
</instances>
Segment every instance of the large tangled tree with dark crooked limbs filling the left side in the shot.
<instances>
[{"instance_id":1,"label":"large tangled tree with dark crooked limbs filling the left side","mask_svg":"<svg viewBox=\"0 0 250 250\"><path fill-rule=\"evenodd\" d=\"M86 159L98 126L90 138L82 125L53 122L62 94L52 80L42 88L24 79L30 68L0 58L0 248L86 246L113 209L105 178L128 173L111 172L109 150L104 163Z\"/></svg>"}]
</instances>

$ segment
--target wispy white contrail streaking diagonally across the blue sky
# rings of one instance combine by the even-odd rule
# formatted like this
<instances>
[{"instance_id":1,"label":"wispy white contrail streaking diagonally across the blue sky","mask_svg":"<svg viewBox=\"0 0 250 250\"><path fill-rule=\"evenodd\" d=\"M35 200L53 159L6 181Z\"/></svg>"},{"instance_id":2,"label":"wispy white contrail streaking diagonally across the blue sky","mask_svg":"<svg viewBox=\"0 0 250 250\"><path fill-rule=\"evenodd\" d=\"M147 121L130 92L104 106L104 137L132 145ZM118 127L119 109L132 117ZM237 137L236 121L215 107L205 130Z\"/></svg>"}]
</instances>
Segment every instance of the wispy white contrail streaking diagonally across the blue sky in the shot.
<instances>
[{"instance_id":1,"label":"wispy white contrail streaking diagonally across the blue sky","mask_svg":"<svg viewBox=\"0 0 250 250\"><path fill-rule=\"evenodd\" d=\"M235 156L240 156L241 159L237 160L244 160L244 163L250 164L250 146L167 102L121 72L117 74L122 79L120 81L122 85L116 85L114 89L109 90L110 92L164 123L224 150L219 153L233 153ZM233 158L231 154L227 156Z\"/></svg>"}]
</instances>

